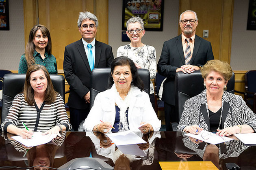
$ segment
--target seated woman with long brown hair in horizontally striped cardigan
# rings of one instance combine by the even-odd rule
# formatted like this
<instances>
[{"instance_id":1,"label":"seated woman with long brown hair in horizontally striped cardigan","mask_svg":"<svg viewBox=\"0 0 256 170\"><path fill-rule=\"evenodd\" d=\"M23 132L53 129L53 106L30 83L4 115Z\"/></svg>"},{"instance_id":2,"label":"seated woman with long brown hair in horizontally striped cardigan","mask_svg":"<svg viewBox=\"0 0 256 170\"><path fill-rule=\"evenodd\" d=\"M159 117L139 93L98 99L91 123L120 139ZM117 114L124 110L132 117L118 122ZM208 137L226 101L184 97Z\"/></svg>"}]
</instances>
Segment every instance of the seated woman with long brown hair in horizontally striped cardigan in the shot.
<instances>
[{"instance_id":1,"label":"seated woman with long brown hair in horizontally striped cardigan","mask_svg":"<svg viewBox=\"0 0 256 170\"><path fill-rule=\"evenodd\" d=\"M60 132L71 130L63 98L54 90L44 66L28 68L24 93L15 96L1 128L24 139L31 138L33 131L61 136Z\"/></svg>"}]
</instances>

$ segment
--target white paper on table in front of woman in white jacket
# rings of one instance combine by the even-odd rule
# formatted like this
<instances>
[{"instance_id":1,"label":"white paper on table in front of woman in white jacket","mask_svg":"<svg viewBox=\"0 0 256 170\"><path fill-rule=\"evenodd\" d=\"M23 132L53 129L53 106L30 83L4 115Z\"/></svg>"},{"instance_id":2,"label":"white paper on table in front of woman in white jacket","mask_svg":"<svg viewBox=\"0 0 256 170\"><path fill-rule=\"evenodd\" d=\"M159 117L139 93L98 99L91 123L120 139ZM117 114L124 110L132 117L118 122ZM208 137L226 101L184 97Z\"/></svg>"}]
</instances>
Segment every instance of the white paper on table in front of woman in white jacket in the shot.
<instances>
[{"instance_id":1,"label":"white paper on table in front of woman in white jacket","mask_svg":"<svg viewBox=\"0 0 256 170\"><path fill-rule=\"evenodd\" d=\"M137 134L128 130L126 132L117 132L113 134L106 134L115 145L126 145L126 144L138 144L138 143L146 143L145 140L140 138Z\"/></svg>"}]
</instances>

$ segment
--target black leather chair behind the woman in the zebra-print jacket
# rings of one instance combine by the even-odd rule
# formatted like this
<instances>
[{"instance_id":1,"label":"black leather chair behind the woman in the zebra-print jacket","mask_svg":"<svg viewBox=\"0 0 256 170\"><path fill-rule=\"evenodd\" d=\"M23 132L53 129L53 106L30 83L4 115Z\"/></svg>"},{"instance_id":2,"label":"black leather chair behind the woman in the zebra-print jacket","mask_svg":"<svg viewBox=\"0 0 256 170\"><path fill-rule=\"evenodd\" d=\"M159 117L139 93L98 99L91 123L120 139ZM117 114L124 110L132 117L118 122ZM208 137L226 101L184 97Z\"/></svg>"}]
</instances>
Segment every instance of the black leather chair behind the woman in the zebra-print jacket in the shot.
<instances>
[{"instance_id":1,"label":"black leather chair behind the woman in the zebra-print jacket","mask_svg":"<svg viewBox=\"0 0 256 170\"><path fill-rule=\"evenodd\" d=\"M178 119L183 112L183 105L186 100L200 94L204 90L204 79L200 70L196 70L192 74L184 74L177 72L175 77L175 103L176 114ZM227 84L227 91L234 94L234 72ZM172 123L173 130L176 130L177 123ZM174 129L175 128L175 129Z\"/></svg>"}]
</instances>

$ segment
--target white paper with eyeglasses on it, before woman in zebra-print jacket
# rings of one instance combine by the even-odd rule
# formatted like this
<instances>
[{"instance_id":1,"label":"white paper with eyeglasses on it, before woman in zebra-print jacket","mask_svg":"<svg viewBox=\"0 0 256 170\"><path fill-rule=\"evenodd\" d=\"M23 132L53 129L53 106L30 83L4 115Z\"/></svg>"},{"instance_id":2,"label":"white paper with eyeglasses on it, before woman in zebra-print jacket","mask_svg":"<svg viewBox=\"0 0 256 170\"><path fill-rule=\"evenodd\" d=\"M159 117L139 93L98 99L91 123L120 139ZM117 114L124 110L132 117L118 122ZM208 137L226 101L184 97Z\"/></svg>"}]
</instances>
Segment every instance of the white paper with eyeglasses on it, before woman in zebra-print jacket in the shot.
<instances>
[{"instance_id":1,"label":"white paper with eyeglasses on it, before woman in zebra-print jacket","mask_svg":"<svg viewBox=\"0 0 256 170\"><path fill-rule=\"evenodd\" d=\"M204 142L210 143L210 144L218 144L222 142L228 142L230 140L233 140L232 138L228 138L226 136L219 136L217 134L214 134L212 132L208 132L205 130L202 130L200 134L185 134L187 136L190 136L192 138L196 138L198 140L202 140Z\"/></svg>"}]
</instances>

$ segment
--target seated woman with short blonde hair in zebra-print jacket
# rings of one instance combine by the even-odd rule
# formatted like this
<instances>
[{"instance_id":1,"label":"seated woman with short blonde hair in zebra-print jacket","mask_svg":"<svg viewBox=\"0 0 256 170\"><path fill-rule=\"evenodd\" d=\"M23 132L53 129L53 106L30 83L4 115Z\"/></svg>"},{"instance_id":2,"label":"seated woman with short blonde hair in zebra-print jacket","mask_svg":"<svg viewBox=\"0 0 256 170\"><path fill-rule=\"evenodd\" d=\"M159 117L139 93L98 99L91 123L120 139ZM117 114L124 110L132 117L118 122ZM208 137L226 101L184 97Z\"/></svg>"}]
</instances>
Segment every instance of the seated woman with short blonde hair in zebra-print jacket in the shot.
<instances>
[{"instance_id":1,"label":"seated woman with short blonde hair in zebra-print jacket","mask_svg":"<svg viewBox=\"0 0 256 170\"><path fill-rule=\"evenodd\" d=\"M192 134L217 131L220 136L256 132L256 115L242 97L224 91L232 76L230 65L210 60L201 73L206 89L185 102L177 129Z\"/></svg>"}]
</instances>

